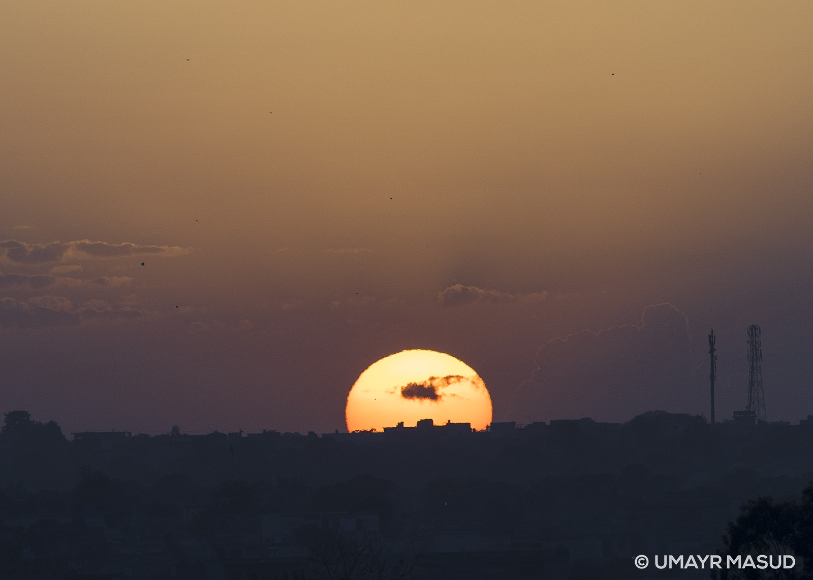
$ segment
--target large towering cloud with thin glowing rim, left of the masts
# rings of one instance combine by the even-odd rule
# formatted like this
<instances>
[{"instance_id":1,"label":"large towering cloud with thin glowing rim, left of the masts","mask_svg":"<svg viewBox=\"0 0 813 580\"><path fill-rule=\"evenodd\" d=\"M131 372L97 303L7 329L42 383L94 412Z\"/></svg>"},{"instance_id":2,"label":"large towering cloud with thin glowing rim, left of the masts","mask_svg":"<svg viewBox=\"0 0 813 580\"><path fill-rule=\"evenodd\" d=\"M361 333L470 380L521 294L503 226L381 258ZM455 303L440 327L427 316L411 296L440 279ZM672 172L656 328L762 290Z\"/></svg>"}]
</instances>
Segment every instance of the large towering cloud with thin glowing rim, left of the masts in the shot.
<instances>
[{"instance_id":1,"label":"large towering cloud with thin glowing rim, left of the masts","mask_svg":"<svg viewBox=\"0 0 813 580\"><path fill-rule=\"evenodd\" d=\"M512 418L522 422L627 421L651 409L698 409L689 325L671 304L647 306L640 325L550 340L536 364L512 401Z\"/></svg>"}]
</instances>

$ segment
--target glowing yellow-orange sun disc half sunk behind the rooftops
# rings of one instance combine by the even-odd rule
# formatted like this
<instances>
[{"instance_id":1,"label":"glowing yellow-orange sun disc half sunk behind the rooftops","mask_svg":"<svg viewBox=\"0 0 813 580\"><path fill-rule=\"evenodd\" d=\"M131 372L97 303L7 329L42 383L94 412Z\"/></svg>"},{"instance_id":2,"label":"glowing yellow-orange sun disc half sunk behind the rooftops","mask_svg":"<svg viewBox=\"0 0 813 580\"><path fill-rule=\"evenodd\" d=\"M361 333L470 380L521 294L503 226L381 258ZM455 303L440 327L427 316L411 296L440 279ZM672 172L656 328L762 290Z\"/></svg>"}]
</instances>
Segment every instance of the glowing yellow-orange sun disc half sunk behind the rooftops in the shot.
<instances>
[{"instance_id":1,"label":"glowing yellow-orange sun disc half sunk behind the rooftops","mask_svg":"<svg viewBox=\"0 0 813 580\"><path fill-rule=\"evenodd\" d=\"M485 429L491 397L483 379L448 354L404 350L369 366L347 396L348 431L415 426L420 419Z\"/></svg>"}]
</instances>

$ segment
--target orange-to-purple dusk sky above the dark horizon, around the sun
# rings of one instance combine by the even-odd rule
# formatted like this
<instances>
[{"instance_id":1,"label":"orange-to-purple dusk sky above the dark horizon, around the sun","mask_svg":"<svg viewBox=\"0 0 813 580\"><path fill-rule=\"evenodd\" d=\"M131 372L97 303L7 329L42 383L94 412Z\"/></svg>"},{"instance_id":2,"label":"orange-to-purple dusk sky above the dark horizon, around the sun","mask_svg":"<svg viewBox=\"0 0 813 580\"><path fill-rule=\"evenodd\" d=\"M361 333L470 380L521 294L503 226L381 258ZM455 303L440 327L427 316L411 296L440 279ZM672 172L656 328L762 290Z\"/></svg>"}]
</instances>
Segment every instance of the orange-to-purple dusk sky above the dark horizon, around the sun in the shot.
<instances>
[{"instance_id":1,"label":"orange-to-purple dusk sky above the dark horizon, around the sun","mask_svg":"<svg viewBox=\"0 0 813 580\"><path fill-rule=\"evenodd\" d=\"M495 420L708 416L714 327L729 418L758 323L806 417L811 39L811 2L2 2L0 411L333 431L430 348Z\"/></svg>"}]
</instances>

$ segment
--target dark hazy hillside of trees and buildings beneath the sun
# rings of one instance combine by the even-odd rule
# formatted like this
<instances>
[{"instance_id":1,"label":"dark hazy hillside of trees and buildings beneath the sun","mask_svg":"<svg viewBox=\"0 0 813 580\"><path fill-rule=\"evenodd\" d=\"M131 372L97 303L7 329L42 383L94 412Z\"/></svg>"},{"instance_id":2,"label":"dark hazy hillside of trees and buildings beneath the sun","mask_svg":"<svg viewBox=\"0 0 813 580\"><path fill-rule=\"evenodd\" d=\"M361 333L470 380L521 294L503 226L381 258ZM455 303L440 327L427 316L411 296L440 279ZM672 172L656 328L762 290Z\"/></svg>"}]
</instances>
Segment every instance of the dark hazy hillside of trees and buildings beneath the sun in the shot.
<instances>
[{"instance_id":1,"label":"dark hazy hillside of trees and buildings beneath the sun","mask_svg":"<svg viewBox=\"0 0 813 580\"><path fill-rule=\"evenodd\" d=\"M632 578L637 554L714 553L741 504L806 485L813 416L734 417L104 431L45 448L0 433L0 578L322 578L337 553L412 580Z\"/></svg>"}]
</instances>

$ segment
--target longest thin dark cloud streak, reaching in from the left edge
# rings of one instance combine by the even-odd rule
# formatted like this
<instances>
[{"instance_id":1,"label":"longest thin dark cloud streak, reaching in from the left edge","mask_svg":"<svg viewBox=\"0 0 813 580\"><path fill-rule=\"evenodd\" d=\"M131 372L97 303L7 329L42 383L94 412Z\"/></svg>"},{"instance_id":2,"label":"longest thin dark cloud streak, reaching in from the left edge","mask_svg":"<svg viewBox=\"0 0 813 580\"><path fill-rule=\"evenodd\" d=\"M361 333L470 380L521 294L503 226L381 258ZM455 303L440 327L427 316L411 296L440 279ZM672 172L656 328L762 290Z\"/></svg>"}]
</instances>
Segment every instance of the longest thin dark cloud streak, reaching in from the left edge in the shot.
<instances>
[{"instance_id":1,"label":"longest thin dark cloud streak, reaching in from the left edge","mask_svg":"<svg viewBox=\"0 0 813 580\"><path fill-rule=\"evenodd\" d=\"M47 264L70 258L120 258L122 256L177 256L191 249L168 245L138 245L131 242L108 244L103 241L54 241L49 244L26 244L18 240L0 241L0 259L15 264Z\"/></svg>"}]
</instances>

